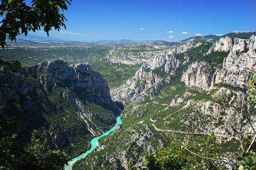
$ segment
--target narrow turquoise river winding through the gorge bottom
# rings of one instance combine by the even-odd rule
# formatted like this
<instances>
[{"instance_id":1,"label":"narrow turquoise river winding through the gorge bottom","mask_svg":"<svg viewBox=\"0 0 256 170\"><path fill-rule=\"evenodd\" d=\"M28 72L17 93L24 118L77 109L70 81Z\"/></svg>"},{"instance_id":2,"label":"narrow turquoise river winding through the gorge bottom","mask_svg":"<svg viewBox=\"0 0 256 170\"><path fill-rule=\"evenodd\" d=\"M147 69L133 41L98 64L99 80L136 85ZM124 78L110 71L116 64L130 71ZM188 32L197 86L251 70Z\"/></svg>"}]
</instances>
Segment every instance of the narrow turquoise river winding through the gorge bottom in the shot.
<instances>
[{"instance_id":1,"label":"narrow turquoise river winding through the gorge bottom","mask_svg":"<svg viewBox=\"0 0 256 170\"><path fill-rule=\"evenodd\" d=\"M93 152L94 149L96 149L99 146L99 142L98 141L99 141L100 138L102 138L103 136L109 135L111 132L114 131L114 129L116 128L117 125L121 125L121 124L122 124L121 116L117 116L116 124L111 129L109 129L109 131L105 132L104 134L102 134L100 136L97 136L97 137L91 139L91 141L90 141L90 143L91 143L90 150L88 150L88 151L84 152L83 154L78 155L77 157L75 157L75 158L71 159L70 161L68 161L68 165L65 165L64 169L65 170L72 170L72 166L74 165L74 163L76 161L85 158L88 154Z\"/></svg>"}]
</instances>

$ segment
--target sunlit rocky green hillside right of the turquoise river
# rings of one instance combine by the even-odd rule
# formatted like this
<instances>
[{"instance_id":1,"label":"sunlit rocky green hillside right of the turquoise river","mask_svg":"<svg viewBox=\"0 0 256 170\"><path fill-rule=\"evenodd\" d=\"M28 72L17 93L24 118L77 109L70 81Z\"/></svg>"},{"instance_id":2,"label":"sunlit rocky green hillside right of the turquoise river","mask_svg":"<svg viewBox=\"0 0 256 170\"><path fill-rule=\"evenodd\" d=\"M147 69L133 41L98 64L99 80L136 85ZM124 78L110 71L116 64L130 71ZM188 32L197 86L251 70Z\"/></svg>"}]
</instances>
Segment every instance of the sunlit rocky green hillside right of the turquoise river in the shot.
<instances>
[{"instance_id":1,"label":"sunlit rocky green hillside right of the turquoise river","mask_svg":"<svg viewBox=\"0 0 256 170\"><path fill-rule=\"evenodd\" d=\"M129 162L142 163L143 152L188 136L200 141L215 134L222 154L238 151L239 132L252 134L249 120L256 126L247 89L256 74L255 47L253 35L227 36L215 44L192 41L168 51L112 51L109 62L142 64L133 78L111 91L126 106L123 125L74 169L129 169Z\"/></svg>"}]
</instances>

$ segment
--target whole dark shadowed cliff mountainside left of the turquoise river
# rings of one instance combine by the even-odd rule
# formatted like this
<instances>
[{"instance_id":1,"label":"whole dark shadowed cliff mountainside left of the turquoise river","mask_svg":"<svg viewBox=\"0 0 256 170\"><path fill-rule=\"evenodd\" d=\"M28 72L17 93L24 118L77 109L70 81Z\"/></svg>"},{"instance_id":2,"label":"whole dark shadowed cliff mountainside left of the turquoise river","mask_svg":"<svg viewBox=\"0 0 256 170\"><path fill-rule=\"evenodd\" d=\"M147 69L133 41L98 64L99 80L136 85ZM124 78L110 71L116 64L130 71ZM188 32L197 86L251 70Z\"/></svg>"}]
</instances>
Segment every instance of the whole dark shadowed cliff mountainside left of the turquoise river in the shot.
<instances>
[{"instance_id":1,"label":"whole dark shadowed cliff mountainside left of the turquoise river","mask_svg":"<svg viewBox=\"0 0 256 170\"><path fill-rule=\"evenodd\" d=\"M0 105L19 119L19 138L28 141L31 131L39 129L52 147L68 154L77 152L72 145L110 128L119 111L107 82L88 64L50 61L29 68L4 67L0 79Z\"/></svg>"}]
</instances>

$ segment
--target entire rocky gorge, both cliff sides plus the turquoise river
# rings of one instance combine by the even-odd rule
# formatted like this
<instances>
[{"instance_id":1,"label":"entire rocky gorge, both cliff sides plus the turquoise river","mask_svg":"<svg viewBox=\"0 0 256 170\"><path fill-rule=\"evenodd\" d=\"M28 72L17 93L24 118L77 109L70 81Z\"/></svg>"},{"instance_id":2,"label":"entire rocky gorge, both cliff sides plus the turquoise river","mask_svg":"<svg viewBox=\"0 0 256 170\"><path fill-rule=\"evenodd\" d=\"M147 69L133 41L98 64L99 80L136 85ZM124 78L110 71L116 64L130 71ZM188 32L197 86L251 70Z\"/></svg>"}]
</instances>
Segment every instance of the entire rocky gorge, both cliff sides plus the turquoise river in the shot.
<instances>
[{"instance_id":1,"label":"entire rocky gorge, both cliff sides plus the turquoise river","mask_svg":"<svg viewBox=\"0 0 256 170\"><path fill-rule=\"evenodd\" d=\"M102 48L109 51L91 66L57 59L0 69L0 105L19 120L21 142L37 129L68 155L65 169L129 169L173 139L210 134L229 159L239 135L254 134L255 34Z\"/></svg>"}]
</instances>

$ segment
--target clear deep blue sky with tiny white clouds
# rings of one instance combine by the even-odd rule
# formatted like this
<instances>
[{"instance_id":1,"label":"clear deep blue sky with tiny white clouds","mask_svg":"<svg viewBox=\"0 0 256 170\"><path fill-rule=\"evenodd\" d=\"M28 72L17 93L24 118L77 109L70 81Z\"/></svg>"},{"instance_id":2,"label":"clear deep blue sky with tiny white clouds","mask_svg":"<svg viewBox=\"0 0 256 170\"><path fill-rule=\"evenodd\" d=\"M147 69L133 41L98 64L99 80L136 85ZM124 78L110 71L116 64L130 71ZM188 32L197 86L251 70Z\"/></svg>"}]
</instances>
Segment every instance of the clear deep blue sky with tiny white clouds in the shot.
<instances>
[{"instance_id":1,"label":"clear deep blue sky with tiny white clouds","mask_svg":"<svg viewBox=\"0 0 256 170\"><path fill-rule=\"evenodd\" d=\"M51 31L51 37L179 41L196 34L256 30L256 0L73 0L64 14L67 29Z\"/></svg>"}]
</instances>

